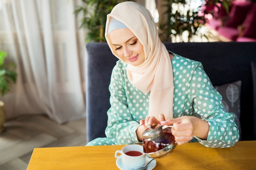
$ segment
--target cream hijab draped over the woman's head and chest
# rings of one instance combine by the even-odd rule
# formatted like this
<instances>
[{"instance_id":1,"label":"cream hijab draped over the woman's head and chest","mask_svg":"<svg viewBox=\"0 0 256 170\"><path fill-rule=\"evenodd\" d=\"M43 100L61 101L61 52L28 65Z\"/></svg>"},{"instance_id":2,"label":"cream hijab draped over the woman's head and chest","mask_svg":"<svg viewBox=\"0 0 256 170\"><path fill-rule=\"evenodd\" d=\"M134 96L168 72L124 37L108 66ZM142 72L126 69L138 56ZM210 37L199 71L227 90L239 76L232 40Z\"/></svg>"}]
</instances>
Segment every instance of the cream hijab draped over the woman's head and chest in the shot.
<instances>
[{"instance_id":1,"label":"cream hijab draped over the woman's head and chest","mask_svg":"<svg viewBox=\"0 0 256 170\"><path fill-rule=\"evenodd\" d=\"M173 69L168 51L159 39L153 17L145 7L136 2L121 2L107 15L105 37L112 53L121 61L108 33L110 17L124 23L144 47L145 61L139 66L127 66L129 81L143 93L149 93L148 115L163 113L173 118Z\"/></svg>"}]
</instances>

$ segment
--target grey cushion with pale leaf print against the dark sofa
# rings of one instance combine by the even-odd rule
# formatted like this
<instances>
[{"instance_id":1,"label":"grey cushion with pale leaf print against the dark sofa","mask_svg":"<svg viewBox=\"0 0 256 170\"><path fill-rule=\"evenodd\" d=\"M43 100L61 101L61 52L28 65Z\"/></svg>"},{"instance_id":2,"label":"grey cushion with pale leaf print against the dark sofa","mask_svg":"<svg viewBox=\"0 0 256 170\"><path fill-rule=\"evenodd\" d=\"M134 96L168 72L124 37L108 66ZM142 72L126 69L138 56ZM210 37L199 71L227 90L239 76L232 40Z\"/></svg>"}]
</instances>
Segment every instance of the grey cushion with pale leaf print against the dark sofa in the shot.
<instances>
[{"instance_id":1,"label":"grey cushion with pale leaf print against the dark sofa","mask_svg":"<svg viewBox=\"0 0 256 170\"><path fill-rule=\"evenodd\" d=\"M241 94L242 82L239 80L233 83L227 83L220 86L214 86L214 88L222 95L222 103L226 112L235 113L235 122L238 126L241 135L240 126L240 94Z\"/></svg>"}]
</instances>

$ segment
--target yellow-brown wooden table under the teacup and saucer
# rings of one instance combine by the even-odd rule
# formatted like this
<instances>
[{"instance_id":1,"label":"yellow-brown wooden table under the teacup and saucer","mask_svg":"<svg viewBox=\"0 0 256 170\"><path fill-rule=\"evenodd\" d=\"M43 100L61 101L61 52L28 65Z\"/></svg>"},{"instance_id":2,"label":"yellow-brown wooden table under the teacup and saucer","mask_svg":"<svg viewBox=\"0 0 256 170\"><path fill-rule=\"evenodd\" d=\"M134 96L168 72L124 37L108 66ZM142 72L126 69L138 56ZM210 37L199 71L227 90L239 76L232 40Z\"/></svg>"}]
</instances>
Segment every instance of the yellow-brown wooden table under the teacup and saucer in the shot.
<instances>
[{"instance_id":1,"label":"yellow-brown wooden table under the teacup and saucer","mask_svg":"<svg viewBox=\"0 0 256 170\"><path fill-rule=\"evenodd\" d=\"M34 148L27 170L119 170L116 146ZM256 141L238 141L231 148L207 148L199 143L177 146L157 159L153 170L256 170Z\"/></svg>"}]
</instances>

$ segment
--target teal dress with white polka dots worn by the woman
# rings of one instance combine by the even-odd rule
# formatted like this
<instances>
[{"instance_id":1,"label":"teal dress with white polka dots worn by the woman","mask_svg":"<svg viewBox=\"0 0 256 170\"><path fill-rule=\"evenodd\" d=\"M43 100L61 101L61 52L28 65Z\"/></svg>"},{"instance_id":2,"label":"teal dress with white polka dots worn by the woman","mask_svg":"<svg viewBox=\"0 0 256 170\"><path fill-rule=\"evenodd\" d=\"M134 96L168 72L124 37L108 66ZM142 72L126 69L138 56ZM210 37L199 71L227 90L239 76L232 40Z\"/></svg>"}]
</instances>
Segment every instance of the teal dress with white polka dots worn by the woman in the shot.
<instances>
[{"instance_id":1,"label":"teal dress with white polka dots worn by the woman","mask_svg":"<svg viewBox=\"0 0 256 170\"><path fill-rule=\"evenodd\" d=\"M236 144L239 131L234 113L226 113L221 95L213 88L200 62L176 55L173 58L173 117L196 116L208 121L207 140L196 136L206 147L228 148ZM126 75L127 64L117 61L110 79L110 104L106 138L97 138L87 146L138 144L139 120L148 113L149 95L133 86Z\"/></svg>"}]
</instances>

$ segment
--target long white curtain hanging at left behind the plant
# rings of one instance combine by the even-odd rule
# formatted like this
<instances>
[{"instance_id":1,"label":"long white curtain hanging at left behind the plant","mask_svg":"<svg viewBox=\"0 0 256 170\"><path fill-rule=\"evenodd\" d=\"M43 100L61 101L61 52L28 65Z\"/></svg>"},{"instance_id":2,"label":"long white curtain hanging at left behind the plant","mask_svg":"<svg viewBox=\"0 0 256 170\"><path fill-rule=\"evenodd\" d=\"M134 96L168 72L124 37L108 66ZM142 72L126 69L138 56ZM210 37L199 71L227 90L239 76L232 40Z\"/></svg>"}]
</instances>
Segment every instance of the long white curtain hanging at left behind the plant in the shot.
<instances>
[{"instance_id":1,"label":"long white curtain hanging at left behind the plant","mask_svg":"<svg viewBox=\"0 0 256 170\"><path fill-rule=\"evenodd\" d=\"M0 50L18 72L11 92L0 97L7 119L85 117L85 33L76 5L81 0L0 0Z\"/></svg>"}]
</instances>

